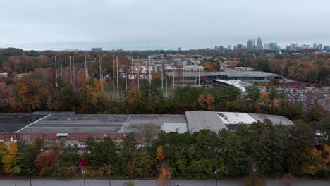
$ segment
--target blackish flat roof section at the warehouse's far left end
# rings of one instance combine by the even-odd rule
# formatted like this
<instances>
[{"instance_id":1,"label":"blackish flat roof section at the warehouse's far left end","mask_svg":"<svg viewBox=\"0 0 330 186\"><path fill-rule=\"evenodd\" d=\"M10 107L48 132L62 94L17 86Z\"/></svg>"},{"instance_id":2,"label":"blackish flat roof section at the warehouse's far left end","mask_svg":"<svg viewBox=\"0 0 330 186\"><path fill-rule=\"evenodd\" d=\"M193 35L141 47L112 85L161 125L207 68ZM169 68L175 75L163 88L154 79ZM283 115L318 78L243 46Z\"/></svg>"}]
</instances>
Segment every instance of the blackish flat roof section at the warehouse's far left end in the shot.
<instances>
[{"instance_id":1,"label":"blackish flat roof section at the warehouse's far left end","mask_svg":"<svg viewBox=\"0 0 330 186\"><path fill-rule=\"evenodd\" d=\"M0 132L15 132L42 117L44 117L44 115L0 113Z\"/></svg>"}]
</instances>

